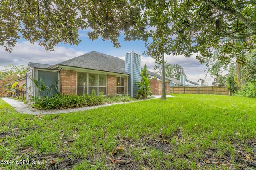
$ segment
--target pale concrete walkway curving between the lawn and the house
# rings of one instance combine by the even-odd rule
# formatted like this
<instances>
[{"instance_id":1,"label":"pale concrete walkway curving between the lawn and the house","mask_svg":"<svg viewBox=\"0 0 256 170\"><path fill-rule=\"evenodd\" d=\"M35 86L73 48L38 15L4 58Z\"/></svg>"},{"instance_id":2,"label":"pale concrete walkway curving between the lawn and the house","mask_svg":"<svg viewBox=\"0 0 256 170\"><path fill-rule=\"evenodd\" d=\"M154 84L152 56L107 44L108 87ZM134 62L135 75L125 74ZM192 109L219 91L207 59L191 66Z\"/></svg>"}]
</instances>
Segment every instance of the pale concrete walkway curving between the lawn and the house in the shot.
<instances>
[{"instance_id":1,"label":"pale concrete walkway curving between the lawn and the house","mask_svg":"<svg viewBox=\"0 0 256 170\"><path fill-rule=\"evenodd\" d=\"M156 96L156 95L154 95L154 97L161 98L161 96ZM166 97L174 97L174 96L166 95ZM4 100L6 103L10 104L19 113L28 114L28 115L51 115L51 114L60 114L60 113L70 113L70 112L74 112L74 111L85 111L85 110L95 109L95 108L99 108L99 107L111 106L114 104L124 104L124 103L140 101L140 100L136 100L136 101L131 101L131 102L103 104L103 105L79 107L79 108L73 108L73 109L62 109L62 110L38 110L38 109L30 107L29 104L24 104L23 102L20 102L13 98L1 98L1 99Z\"/></svg>"}]
</instances>

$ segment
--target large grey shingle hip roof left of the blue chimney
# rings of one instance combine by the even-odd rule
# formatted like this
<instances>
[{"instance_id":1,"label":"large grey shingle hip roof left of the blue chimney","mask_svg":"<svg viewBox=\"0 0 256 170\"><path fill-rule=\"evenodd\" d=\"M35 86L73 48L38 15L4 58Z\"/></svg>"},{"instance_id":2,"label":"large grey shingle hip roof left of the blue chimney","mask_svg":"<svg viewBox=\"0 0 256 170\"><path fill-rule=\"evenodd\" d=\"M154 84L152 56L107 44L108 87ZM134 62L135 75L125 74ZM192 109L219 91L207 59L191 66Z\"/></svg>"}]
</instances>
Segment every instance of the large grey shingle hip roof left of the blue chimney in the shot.
<instances>
[{"instance_id":1,"label":"large grey shingle hip roof left of the blue chimney","mask_svg":"<svg viewBox=\"0 0 256 170\"><path fill-rule=\"evenodd\" d=\"M96 51L63 61L57 65L128 74L124 69L124 60Z\"/></svg>"}]
</instances>

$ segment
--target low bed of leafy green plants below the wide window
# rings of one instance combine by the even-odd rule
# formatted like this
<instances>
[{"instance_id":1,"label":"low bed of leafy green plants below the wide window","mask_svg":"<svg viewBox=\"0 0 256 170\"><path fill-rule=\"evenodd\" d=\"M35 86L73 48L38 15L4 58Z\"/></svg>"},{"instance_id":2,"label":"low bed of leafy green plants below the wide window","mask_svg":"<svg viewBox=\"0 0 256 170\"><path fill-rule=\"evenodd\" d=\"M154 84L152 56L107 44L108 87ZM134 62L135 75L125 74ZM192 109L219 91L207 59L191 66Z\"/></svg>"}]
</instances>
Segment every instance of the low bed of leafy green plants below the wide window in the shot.
<instances>
[{"instance_id":1,"label":"low bed of leafy green plants below the wide window","mask_svg":"<svg viewBox=\"0 0 256 170\"><path fill-rule=\"evenodd\" d=\"M102 94L100 96L85 95L77 96L76 94L55 94L52 97L40 97L34 102L33 107L36 109L67 109L74 107L85 107L92 105L104 104Z\"/></svg>"}]
</instances>

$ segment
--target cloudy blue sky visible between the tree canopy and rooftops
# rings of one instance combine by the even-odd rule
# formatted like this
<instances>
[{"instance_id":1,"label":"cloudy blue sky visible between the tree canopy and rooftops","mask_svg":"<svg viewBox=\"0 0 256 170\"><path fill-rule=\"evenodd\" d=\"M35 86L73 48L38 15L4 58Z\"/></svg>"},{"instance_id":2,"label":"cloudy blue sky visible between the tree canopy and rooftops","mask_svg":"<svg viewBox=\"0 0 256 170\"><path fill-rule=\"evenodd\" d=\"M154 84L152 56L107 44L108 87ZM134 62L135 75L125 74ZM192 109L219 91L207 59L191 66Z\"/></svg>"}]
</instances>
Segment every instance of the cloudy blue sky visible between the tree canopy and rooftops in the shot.
<instances>
[{"instance_id":1,"label":"cloudy blue sky visible between the tree canopy and rooftops","mask_svg":"<svg viewBox=\"0 0 256 170\"><path fill-rule=\"evenodd\" d=\"M55 47L55 51L46 51L44 47L38 44L30 44L29 41L21 39L13 48L12 53L4 50L0 46L0 70L4 69L6 65L28 65L28 62L43 63L43 64L57 64L62 61L77 57L90 51L98 51L100 53L112 55L124 59L125 53L134 51L141 55L141 66L147 63L148 70L153 71L156 63L151 57L142 55L146 51L145 43L143 41L124 41L124 36L119 38L121 47L119 49L113 47L110 41L103 41L101 38L97 40L89 40L85 31L80 31L80 39L82 42L76 46L69 44L59 44ZM206 77L205 65L202 65L196 59L196 54L192 57L186 58L184 56L165 55L165 59L170 64L179 64L184 68L188 80L197 82L200 78L212 82L210 76Z\"/></svg>"}]
</instances>

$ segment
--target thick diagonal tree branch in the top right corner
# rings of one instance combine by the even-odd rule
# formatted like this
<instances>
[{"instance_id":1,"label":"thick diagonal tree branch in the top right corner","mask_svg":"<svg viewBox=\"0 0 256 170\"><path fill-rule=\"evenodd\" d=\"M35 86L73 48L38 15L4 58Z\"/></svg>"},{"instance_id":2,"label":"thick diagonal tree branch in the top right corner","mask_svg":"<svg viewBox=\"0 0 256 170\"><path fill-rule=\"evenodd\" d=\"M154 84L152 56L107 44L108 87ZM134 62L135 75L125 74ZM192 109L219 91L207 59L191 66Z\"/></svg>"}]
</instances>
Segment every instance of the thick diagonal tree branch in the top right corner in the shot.
<instances>
[{"instance_id":1,"label":"thick diagonal tree branch in the top right corner","mask_svg":"<svg viewBox=\"0 0 256 170\"><path fill-rule=\"evenodd\" d=\"M204 0L208 5L212 6L213 8L224 12L226 14L230 14L232 16L235 16L240 20L244 25L246 25L248 28L252 29L253 31L256 31L256 23L248 20L245 18L240 12L237 12L236 10L230 9L230 8L225 8L223 6L220 6L219 4L216 4L212 0Z\"/></svg>"}]
</instances>

